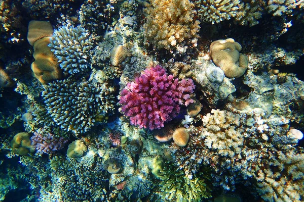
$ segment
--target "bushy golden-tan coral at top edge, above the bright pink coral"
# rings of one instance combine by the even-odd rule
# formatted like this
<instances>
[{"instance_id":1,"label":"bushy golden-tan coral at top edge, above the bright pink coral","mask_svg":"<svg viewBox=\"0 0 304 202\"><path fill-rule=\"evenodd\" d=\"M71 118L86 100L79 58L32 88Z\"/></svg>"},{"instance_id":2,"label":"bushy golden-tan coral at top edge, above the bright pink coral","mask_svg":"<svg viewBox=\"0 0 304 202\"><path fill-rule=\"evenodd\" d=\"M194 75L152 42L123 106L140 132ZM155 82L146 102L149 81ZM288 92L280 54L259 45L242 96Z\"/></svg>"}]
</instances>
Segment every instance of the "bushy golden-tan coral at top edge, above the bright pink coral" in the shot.
<instances>
[{"instance_id":1,"label":"bushy golden-tan coral at top edge, above the bright pink coral","mask_svg":"<svg viewBox=\"0 0 304 202\"><path fill-rule=\"evenodd\" d=\"M198 37L199 21L194 20L189 0L152 0L145 13L145 37L158 49L185 46L181 43L191 44Z\"/></svg>"}]
</instances>

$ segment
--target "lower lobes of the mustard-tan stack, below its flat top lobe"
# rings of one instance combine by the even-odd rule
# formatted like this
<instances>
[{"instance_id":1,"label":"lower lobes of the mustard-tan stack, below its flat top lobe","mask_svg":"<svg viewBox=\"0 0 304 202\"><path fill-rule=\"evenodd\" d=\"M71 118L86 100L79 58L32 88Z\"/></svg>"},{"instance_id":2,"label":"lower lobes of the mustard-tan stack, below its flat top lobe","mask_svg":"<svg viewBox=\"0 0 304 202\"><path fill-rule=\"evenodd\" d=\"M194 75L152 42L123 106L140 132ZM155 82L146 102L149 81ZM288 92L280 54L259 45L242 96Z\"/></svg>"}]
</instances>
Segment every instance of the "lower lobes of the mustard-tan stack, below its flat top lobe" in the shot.
<instances>
[{"instance_id":1,"label":"lower lobes of the mustard-tan stack, below its flat top lobe","mask_svg":"<svg viewBox=\"0 0 304 202\"><path fill-rule=\"evenodd\" d=\"M33 57L35 61L31 64L34 76L44 84L60 79L62 76L57 58L48 46L50 39L51 37L44 37L34 43Z\"/></svg>"}]
</instances>

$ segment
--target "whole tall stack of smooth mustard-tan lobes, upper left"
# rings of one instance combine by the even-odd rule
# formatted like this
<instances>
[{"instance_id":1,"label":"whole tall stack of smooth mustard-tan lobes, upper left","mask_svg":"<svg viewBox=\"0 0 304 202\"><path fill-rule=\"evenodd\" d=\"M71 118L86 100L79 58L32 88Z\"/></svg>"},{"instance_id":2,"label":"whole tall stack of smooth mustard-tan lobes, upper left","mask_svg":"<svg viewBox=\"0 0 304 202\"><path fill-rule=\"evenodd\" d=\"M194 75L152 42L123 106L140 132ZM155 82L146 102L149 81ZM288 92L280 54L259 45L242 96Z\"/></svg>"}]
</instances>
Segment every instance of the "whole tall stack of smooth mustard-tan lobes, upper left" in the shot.
<instances>
[{"instance_id":1,"label":"whole tall stack of smooth mustard-tan lobes, upper left","mask_svg":"<svg viewBox=\"0 0 304 202\"><path fill-rule=\"evenodd\" d=\"M27 40L34 47L35 59L31 64L31 70L34 76L44 84L60 79L62 76L58 60L48 46L52 34L53 28L48 22L30 21L28 24Z\"/></svg>"}]
</instances>

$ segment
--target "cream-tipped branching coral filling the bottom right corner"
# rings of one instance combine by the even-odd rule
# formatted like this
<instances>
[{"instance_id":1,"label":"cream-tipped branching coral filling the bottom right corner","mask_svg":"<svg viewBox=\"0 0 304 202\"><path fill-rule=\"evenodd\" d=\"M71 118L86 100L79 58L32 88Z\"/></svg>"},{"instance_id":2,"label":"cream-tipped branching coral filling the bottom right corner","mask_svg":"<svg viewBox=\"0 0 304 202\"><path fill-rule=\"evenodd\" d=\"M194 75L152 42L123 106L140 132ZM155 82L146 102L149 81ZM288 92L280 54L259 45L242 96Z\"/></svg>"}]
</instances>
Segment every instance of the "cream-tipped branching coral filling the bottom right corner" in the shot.
<instances>
[{"instance_id":1,"label":"cream-tipped branching coral filling the bottom right corner","mask_svg":"<svg viewBox=\"0 0 304 202\"><path fill-rule=\"evenodd\" d=\"M265 201L302 201L304 196L304 154L294 150L278 153L271 167L257 173L257 190Z\"/></svg>"}]
</instances>

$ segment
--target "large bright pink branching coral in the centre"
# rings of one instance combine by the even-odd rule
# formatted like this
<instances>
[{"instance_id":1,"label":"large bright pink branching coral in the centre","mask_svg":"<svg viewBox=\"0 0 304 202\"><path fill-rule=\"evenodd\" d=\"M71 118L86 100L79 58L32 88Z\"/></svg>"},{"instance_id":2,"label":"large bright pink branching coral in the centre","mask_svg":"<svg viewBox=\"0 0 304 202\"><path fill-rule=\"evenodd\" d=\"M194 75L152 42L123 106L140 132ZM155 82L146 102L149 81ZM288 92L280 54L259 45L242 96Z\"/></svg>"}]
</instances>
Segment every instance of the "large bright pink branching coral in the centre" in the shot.
<instances>
[{"instance_id":1,"label":"large bright pink branching coral in the centre","mask_svg":"<svg viewBox=\"0 0 304 202\"><path fill-rule=\"evenodd\" d=\"M161 66L148 68L121 92L122 112L139 128L160 129L180 111L180 105L194 103L192 79L174 79Z\"/></svg>"}]
</instances>

